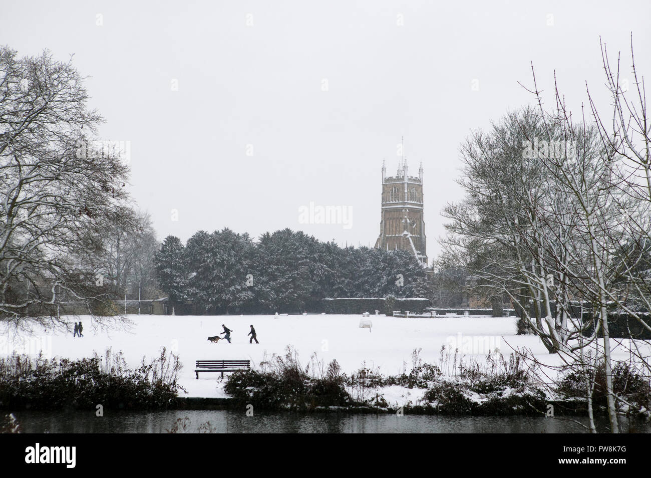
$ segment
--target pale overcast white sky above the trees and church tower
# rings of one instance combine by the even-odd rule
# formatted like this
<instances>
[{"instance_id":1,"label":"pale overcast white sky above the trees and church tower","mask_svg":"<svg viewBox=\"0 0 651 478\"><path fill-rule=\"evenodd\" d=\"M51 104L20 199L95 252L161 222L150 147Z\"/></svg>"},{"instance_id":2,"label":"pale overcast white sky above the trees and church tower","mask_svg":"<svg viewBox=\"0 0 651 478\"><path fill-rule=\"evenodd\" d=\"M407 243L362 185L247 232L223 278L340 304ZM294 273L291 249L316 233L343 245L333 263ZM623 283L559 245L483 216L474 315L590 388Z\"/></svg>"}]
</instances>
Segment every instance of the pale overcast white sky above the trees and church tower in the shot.
<instances>
[{"instance_id":1,"label":"pale overcast white sky above the trees and church tower","mask_svg":"<svg viewBox=\"0 0 651 478\"><path fill-rule=\"evenodd\" d=\"M131 142L130 190L160 239L290 227L373 246L381 163L395 173L404 136L410 172L424 165L431 259L441 208L460 199L460 143L532 102L518 85L532 84L531 61L549 94L556 70L577 111L585 81L603 92L600 35L611 54L622 50L628 73L632 31L637 66L651 74L648 1L0 5L0 44L74 53L92 76L90 106L107 120L100 136ZM300 224L311 202L352 208L352 227Z\"/></svg>"}]
</instances>

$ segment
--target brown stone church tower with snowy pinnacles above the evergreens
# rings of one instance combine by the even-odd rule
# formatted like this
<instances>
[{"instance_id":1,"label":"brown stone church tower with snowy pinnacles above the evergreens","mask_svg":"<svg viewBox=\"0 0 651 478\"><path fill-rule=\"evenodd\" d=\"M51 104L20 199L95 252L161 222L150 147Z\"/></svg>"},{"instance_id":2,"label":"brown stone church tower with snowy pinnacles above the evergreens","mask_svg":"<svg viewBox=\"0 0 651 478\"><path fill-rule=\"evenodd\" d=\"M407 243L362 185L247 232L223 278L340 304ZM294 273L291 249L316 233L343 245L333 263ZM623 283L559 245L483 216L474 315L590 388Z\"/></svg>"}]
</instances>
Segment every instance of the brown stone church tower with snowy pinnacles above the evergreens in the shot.
<instances>
[{"instance_id":1,"label":"brown stone church tower with snowy pinnacles above the evergreens","mask_svg":"<svg viewBox=\"0 0 651 478\"><path fill-rule=\"evenodd\" d=\"M422 162L418 177L408 175L406 160L398 166L395 176L387 176L382 162L382 218L375 247L410 251L427 266L422 205Z\"/></svg>"}]
</instances>

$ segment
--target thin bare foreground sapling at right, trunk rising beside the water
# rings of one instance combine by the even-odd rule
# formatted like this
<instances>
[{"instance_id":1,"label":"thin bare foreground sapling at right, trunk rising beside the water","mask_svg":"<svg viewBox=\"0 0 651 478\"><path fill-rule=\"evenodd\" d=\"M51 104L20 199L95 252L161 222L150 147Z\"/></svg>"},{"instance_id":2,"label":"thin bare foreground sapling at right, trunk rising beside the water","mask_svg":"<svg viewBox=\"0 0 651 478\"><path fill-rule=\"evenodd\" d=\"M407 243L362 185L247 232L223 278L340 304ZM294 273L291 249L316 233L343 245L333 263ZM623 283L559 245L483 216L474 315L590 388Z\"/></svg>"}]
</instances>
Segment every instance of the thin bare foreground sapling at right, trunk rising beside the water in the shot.
<instances>
[{"instance_id":1,"label":"thin bare foreground sapling at right, trunk rising beside the water","mask_svg":"<svg viewBox=\"0 0 651 478\"><path fill-rule=\"evenodd\" d=\"M632 38L631 73L635 85L632 100L620 81L619 55L616 66L611 66L602 44L602 58L606 85L613 100L610 126L603 121L588 88L594 125L587 124L585 115L580 124L574 124L558 87L555 111L544 113L535 75L533 92L546 129L560 132L562 144L574 145L578 150L574 158L561 155L544 161L555 186L568 197L568 204L572 204L569 215L555 214L553 219L555 223L568 223L566 218L571 218L576 232L562 242L566 254L557 257L562 259L556 261L557 272L594 307L597 328L601 328L603 337L600 353L611 431L616 433L619 431L618 402L626 404L626 401L613 389L611 311L624 312L627 322L631 317L642 329L651 331L648 315L642 313L651 309L651 124L646 113L644 80L635 67ZM585 344L578 346L583 353ZM632 340L630 352L631 360L640 359L649 370L648 358ZM583 356L579 362L585 365Z\"/></svg>"}]
</instances>

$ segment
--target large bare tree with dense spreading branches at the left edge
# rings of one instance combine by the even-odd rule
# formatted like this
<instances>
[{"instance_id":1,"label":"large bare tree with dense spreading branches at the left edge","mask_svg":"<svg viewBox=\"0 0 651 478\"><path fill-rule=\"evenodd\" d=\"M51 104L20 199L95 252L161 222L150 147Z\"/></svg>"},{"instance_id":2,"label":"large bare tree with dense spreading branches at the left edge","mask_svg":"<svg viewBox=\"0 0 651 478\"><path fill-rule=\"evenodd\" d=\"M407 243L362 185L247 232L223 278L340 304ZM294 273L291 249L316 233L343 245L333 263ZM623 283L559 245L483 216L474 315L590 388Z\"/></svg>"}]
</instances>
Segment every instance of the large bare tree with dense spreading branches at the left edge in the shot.
<instances>
[{"instance_id":1,"label":"large bare tree with dense spreading branches at the left edge","mask_svg":"<svg viewBox=\"0 0 651 478\"><path fill-rule=\"evenodd\" d=\"M89 145L102 122L83 77L48 51L0 48L0 315L57 322L57 304L102 299L79 251L126 208L128 167Z\"/></svg>"}]
</instances>

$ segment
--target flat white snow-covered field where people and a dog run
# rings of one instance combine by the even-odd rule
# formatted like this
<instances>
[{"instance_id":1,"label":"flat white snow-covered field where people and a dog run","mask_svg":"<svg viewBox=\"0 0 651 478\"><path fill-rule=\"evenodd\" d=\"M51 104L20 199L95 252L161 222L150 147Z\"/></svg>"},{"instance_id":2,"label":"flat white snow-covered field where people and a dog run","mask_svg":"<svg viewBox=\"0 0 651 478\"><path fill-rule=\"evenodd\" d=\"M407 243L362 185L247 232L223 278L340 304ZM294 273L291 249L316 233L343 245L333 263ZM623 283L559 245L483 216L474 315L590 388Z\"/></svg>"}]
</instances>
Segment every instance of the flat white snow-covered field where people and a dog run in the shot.
<instances>
[{"instance_id":1,"label":"flat white snow-covered field where people and a dog run","mask_svg":"<svg viewBox=\"0 0 651 478\"><path fill-rule=\"evenodd\" d=\"M495 346L508 359L512 348L531 349L540 361L558 365L557 354L547 353L540 340L533 335L515 335L515 318L437 317L393 318L370 316L372 329L359 328L360 315L290 315L275 318L271 315L249 316L157 316L130 315L133 324L127 330L93 328L89 316L70 317L70 323L81 319L84 337L72 337L72 332L34 331L32 337L12 338L4 331L0 335L0 356L16 352L36 354L42 350L46 358L83 358L93 352L103 355L109 347L122 351L130 366L141 363L143 356L159 356L161 347L178 354L184 368L180 384L187 397L225 397L219 373L201 373L195 379L195 361L199 359L250 359L252 367L272 354L284 354L292 345L303 366L310 362L314 352L327 366L337 359L345 373L357 371L365 362L367 367L380 367L382 374L398 374L411 369L411 354L421 348L423 362L439 365L441 347L452 346L469 359L484 360ZM232 329L232 343L207 339L219 335L221 324ZM260 344L249 344L249 325L253 324ZM72 330L72 327L71 327ZM613 341L613 358L628 358L628 343ZM648 352L648 345L646 352ZM450 359L450 362L452 360ZM451 367L451 365L450 365ZM443 372L446 373L445 367ZM221 383L220 383L221 382ZM400 387L398 387L400 388ZM406 393L388 391L390 402L400 402ZM413 390L409 393L421 393ZM396 395L396 397L393 397ZM414 397L410 397L413 399Z\"/></svg>"}]
</instances>

